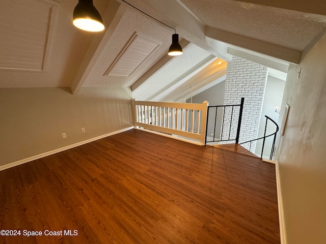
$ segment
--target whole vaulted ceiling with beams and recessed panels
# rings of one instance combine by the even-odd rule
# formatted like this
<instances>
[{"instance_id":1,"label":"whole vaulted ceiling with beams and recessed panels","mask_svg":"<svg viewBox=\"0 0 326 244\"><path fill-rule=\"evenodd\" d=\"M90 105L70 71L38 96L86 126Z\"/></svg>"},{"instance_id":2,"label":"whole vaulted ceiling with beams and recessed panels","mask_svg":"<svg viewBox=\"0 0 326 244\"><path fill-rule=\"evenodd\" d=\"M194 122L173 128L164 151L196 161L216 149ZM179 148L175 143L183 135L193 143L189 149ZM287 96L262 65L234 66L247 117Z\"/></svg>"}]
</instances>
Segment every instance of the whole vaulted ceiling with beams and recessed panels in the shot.
<instances>
[{"instance_id":1,"label":"whole vaulted ceiling with beams and recessed panels","mask_svg":"<svg viewBox=\"0 0 326 244\"><path fill-rule=\"evenodd\" d=\"M105 29L72 25L77 0L0 0L0 88L128 86L140 100L179 101L226 74L237 55L286 72L326 28L312 0L94 0Z\"/></svg>"}]
</instances>

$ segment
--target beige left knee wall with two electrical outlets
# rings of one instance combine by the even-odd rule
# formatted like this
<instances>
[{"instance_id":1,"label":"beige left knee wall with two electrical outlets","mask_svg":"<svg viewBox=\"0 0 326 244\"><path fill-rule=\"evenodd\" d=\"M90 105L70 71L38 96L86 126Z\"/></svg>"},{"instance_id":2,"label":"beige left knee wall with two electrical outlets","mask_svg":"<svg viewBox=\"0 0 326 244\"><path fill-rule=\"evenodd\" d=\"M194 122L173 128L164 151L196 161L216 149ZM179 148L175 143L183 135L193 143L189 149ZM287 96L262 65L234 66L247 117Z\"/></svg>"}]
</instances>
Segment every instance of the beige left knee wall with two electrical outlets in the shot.
<instances>
[{"instance_id":1,"label":"beige left knee wall with two electrical outlets","mask_svg":"<svg viewBox=\"0 0 326 244\"><path fill-rule=\"evenodd\" d=\"M0 166L128 128L131 108L127 87L1 88Z\"/></svg>"}]
</instances>

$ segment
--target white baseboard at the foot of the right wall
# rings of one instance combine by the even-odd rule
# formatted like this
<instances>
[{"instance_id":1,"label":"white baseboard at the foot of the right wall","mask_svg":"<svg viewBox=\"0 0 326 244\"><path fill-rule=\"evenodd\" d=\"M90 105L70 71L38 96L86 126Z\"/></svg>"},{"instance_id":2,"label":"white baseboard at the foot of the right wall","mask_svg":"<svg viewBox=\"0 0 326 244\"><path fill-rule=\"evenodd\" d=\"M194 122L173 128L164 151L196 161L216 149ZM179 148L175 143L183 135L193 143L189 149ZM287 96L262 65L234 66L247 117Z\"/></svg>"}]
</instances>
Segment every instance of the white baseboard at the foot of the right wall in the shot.
<instances>
[{"instance_id":1,"label":"white baseboard at the foot of the right wall","mask_svg":"<svg viewBox=\"0 0 326 244\"><path fill-rule=\"evenodd\" d=\"M279 170L278 161L276 161L275 166L276 166L275 169L276 169L277 201L278 201L278 208L279 208L280 238L281 238L281 244L287 244L286 234L285 234L283 197L281 191L280 170Z\"/></svg>"}]
</instances>

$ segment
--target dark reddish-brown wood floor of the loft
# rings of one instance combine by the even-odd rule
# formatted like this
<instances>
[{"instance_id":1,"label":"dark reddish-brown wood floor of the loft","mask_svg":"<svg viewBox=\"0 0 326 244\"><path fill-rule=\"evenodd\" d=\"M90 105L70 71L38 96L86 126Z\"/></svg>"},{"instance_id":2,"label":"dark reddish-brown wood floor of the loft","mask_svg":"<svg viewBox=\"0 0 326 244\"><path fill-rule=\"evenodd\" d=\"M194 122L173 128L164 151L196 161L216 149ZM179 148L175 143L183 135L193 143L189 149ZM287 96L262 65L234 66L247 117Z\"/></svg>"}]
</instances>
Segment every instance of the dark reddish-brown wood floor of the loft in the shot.
<instances>
[{"instance_id":1,"label":"dark reddish-brown wood floor of the loft","mask_svg":"<svg viewBox=\"0 0 326 244\"><path fill-rule=\"evenodd\" d=\"M21 231L6 244L276 244L275 166L130 130L1 171L3 229Z\"/></svg>"}]
</instances>

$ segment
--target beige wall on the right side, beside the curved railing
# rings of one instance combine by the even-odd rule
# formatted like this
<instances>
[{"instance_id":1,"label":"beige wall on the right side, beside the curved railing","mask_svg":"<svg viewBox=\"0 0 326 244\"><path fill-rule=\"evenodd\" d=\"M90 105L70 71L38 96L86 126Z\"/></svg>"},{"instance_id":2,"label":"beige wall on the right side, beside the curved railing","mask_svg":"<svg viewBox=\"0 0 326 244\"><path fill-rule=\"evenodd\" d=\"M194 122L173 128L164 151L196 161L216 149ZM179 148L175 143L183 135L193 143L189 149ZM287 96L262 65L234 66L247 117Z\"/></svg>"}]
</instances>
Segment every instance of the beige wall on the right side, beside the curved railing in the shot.
<instances>
[{"instance_id":1,"label":"beige wall on the right side, beside the curved railing","mask_svg":"<svg viewBox=\"0 0 326 244\"><path fill-rule=\"evenodd\" d=\"M290 66L284 90L290 110L277 153L288 244L326 243L325 54L326 35Z\"/></svg>"}]
</instances>

